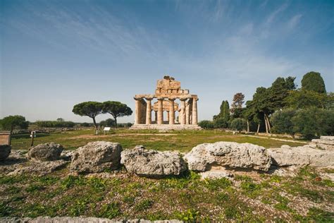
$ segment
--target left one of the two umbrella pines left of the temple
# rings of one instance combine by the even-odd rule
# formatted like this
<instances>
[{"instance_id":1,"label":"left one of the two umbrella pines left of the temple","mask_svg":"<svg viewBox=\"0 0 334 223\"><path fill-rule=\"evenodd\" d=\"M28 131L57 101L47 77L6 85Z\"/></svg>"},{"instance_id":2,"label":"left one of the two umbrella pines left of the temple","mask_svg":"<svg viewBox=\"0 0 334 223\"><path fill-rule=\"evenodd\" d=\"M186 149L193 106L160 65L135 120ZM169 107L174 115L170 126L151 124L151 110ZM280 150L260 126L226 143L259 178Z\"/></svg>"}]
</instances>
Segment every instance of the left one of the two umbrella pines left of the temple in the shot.
<instances>
[{"instance_id":1,"label":"left one of the two umbrella pines left of the temple","mask_svg":"<svg viewBox=\"0 0 334 223\"><path fill-rule=\"evenodd\" d=\"M89 118L93 119L95 128L98 129L95 117L102 113L102 107L103 104L101 102L82 102L80 104L75 104L72 112L80 116L89 116Z\"/></svg>"}]
</instances>

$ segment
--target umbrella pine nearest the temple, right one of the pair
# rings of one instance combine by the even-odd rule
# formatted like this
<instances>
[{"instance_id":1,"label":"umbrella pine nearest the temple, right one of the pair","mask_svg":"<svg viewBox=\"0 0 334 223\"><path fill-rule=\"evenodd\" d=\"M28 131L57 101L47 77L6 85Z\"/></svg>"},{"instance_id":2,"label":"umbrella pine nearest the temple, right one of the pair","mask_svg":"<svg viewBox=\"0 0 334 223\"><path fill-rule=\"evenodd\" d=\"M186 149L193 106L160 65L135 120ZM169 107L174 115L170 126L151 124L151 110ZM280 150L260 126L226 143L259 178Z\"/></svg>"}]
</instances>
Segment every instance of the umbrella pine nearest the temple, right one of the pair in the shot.
<instances>
[{"instance_id":1,"label":"umbrella pine nearest the temple, right one of the pair","mask_svg":"<svg viewBox=\"0 0 334 223\"><path fill-rule=\"evenodd\" d=\"M115 126L117 128L117 118L123 116L129 116L132 114L132 110L126 104L120 102L103 102L103 113L109 113L115 120Z\"/></svg>"}]
</instances>

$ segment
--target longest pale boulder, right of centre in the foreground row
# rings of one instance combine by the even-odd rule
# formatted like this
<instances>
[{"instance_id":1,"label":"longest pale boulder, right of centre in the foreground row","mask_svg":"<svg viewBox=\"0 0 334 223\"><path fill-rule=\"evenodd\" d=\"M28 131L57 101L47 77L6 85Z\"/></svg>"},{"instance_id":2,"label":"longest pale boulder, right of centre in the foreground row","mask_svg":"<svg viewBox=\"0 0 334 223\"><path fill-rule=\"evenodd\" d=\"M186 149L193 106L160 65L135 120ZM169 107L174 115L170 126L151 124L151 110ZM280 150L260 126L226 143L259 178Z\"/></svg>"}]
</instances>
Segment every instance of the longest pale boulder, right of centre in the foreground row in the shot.
<instances>
[{"instance_id":1,"label":"longest pale boulder, right of centre in the foreground row","mask_svg":"<svg viewBox=\"0 0 334 223\"><path fill-rule=\"evenodd\" d=\"M264 147L250 143L204 143L185 155L190 170L206 171L212 166L242 167L268 171L271 157Z\"/></svg>"}]
</instances>

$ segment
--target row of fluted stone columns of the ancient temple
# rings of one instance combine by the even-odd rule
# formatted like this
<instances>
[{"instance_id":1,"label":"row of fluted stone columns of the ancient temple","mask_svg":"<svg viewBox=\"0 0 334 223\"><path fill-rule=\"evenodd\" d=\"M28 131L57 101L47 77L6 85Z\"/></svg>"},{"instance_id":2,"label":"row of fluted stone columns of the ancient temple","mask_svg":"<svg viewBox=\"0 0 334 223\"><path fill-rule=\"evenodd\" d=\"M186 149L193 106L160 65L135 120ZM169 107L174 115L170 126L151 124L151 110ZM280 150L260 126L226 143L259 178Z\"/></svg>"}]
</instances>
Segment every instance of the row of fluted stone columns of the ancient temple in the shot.
<instances>
[{"instance_id":1,"label":"row of fluted stone columns of the ancient temple","mask_svg":"<svg viewBox=\"0 0 334 223\"><path fill-rule=\"evenodd\" d=\"M143 98L135 97L135 124L146 123L147 125L151 124L151 110L152 104L151 101L153 97L145 97L147 102ZM159 125L163 124L163 97L158 97L158 111L155 113L156 123ZM170 125L175 124L175 109L174 101L175 98L168 98L169 100L169 111L168 111L168 123ZM179 115L179 122L181 125L197 125L197 98L192 97L186 102L188 98L180 98L181 101L181 110ZM143 109L146 110L143 112ZM143 119L144 118L144 119Z\"/></svg>"}]
</instances>

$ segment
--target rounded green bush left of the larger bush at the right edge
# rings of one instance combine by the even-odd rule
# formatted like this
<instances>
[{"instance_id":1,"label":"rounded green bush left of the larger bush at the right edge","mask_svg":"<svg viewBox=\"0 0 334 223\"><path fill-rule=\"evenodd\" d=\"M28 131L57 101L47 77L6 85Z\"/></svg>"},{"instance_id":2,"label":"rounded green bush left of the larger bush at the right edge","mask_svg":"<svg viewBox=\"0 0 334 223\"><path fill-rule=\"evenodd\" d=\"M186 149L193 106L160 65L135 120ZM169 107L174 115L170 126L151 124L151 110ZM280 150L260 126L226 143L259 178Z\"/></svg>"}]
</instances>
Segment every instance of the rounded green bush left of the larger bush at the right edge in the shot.
<instances>
[{"instance_id":1,"label":"rounded green bush left of the larger bush at the right edge","mask_svg":"<svg viewBox=\"0 0 334 223\"><path fill-rule=\"evenodd\" d=\"M295 138L295 129L292 123L292 118L295 116L295 109L283 109L276 111L271 116L271 123L273 124L273 132L275 133L287 133Z\"/></svg>"}]
</instances>

